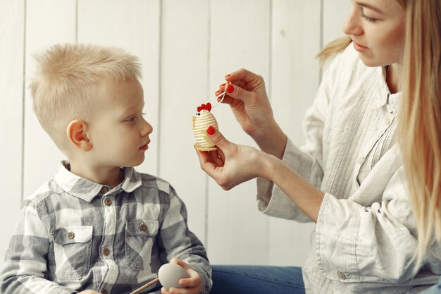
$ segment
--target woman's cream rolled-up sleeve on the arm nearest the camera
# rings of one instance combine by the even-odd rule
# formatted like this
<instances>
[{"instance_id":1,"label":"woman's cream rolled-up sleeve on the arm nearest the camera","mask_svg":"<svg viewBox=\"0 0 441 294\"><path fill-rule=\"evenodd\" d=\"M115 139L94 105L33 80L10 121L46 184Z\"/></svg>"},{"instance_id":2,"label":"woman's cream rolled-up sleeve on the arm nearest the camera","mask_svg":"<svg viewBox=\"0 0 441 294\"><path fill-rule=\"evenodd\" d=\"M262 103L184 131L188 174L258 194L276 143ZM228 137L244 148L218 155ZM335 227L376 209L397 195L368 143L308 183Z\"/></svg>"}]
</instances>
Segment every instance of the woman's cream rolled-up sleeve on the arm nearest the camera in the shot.
<instances>
[{"instance_id":1,"label":"woman's cream rolled-up sleeve on the arm nearest the camera","mask_svg":"<svg viewBox=\"0 0 441 294\"><path fill-rule=\"evenodd\" d=\"M318 266L329 278L344 282L404 283L414 278L417 236L406 191L404 166L395 145L348 200L325 194L316 225ZM364 199L378 198L364 203ZM435 243L424 266L441 272ZM439 250L439 247L437 247ZM433 274L432 274L433 275ZM431 276L430 278L434 278Z\"/></svg>"}]
</instances>

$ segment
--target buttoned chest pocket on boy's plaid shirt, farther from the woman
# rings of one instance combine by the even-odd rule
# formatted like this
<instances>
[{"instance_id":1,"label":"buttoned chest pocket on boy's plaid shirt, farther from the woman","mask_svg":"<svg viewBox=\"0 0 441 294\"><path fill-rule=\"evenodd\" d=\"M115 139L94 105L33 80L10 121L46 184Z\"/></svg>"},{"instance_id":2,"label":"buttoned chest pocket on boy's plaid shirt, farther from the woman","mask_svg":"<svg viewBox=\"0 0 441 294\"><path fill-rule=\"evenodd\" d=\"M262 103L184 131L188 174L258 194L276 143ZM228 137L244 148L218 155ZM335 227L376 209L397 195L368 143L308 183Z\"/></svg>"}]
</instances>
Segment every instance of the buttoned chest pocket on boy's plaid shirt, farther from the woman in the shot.
<instances>
[{"instance_id":1,"label":"buttoned chest pocket on boy's plaid shirt, farther from the woman","mask_svg":"<svg viewBox=\"0 0 441 294\"><path fill-rule=\"evenodd\" d=\"M79 280L89 271L93 226L68 226L53 231L58 280Z\"/></svg>"}]
</instances>

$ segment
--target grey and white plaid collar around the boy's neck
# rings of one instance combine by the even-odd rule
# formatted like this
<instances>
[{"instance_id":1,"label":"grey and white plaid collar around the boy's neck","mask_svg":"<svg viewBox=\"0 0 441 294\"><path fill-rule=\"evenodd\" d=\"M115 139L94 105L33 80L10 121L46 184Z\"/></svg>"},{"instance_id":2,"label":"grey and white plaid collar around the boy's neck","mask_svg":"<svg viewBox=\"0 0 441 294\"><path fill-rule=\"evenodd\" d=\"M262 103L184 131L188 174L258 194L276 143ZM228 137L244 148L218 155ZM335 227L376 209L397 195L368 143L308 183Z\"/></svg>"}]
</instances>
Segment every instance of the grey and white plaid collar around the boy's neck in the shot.
<instances>
[{"instance_id":1,"label":"grey and white plaid collar around the boy's neck","mask_svg":"<svg viewBox=\"0 0 441 294\"><path fill-rule=\"evenodd\" d=\"M124 180L110 190L106 185L92 182L92 180L87 180L87 178L82 178L71 173L69 162L62 161L58 173L54 176L54 180L68 194L91 202L94 197L97 197L97 195L101 193L103 188L108 188L108 192L104 193L105 195L113 195L121 190L133 192L142 184L141 176L132 167L123 168L122 171L124 173Z\"/></svg>"}]
</instances>

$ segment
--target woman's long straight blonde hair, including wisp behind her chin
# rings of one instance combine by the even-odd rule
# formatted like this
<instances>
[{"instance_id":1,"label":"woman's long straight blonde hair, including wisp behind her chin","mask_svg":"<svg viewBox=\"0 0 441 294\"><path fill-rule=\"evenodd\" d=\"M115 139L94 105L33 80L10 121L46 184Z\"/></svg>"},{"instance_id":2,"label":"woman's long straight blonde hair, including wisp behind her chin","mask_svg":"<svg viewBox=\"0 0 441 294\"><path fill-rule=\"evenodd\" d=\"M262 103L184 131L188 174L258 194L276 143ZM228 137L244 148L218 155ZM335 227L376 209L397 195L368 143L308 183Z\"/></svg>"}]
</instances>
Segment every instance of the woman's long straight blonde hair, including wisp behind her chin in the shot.
<instances>
[{"instance_id":1,"label":"woman's long straight blonde hair, including wisp behind her chin","mask_svg":"<svg viewBox=\"0 0 441 294\"><path fill-rule=\"evenodd\" d=\"M397 2L406 8L398 137L418 231L418 265L434 238L441 242L441 1ZM318 54L321 64L350 42L347 36L328 44Z\"/></svg>"}]
</instances>

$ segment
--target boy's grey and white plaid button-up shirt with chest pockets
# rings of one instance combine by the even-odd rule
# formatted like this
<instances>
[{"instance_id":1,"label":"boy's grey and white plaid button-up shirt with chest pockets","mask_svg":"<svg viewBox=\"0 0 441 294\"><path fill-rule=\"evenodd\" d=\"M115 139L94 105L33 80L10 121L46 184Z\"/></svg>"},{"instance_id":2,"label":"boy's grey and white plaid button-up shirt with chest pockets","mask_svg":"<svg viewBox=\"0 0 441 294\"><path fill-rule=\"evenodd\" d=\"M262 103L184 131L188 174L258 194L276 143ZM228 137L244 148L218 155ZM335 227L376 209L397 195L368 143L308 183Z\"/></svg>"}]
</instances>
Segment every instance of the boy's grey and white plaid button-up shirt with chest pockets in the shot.
<instances>
[{"instance_id":1,"label":"boy's grey and white plaid button-up shirt with chest pockets","mask_svg":"<svg viewBox=\"0 0 441 294\"><path fill-rule=\"evenodd\" d=\"M130 293L177 257L211 289L201 241L187 227L185 204L164 180L123 169L116 188L61 166L23 203L1 270L0 293ZM161 293L161 285L144 293Z\"/></svg>"}]
</instances>

